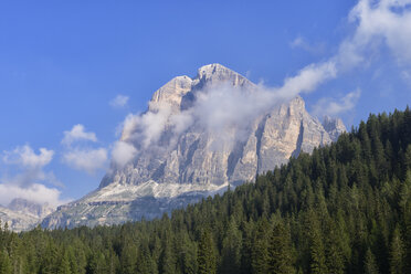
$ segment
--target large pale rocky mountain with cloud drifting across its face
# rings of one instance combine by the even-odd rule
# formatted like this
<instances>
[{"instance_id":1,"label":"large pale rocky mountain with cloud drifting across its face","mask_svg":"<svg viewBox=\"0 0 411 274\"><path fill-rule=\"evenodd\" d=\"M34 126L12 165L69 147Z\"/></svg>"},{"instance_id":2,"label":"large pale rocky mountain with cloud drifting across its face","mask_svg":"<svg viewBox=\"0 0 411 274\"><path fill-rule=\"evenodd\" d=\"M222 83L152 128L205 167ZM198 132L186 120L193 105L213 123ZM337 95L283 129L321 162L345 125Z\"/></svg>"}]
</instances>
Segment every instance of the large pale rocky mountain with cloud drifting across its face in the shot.
<instances>
[{"instance_id":1,"label":"large pale rocky mountain with cloud drifting across its face","mask_svg":"<svg viewBox=\"0 0 411 274\"><path fill-rule=\"evenodd\" d=\"M160 87L146 113L128 116L95 191L45 218L45 228L152 219L171 209L252 181L301 151L328 145L345 130L310 116L302 97L275 99L220 65ZM116 147L113 152L116 156Z\"/></svg>"}]
</instances>

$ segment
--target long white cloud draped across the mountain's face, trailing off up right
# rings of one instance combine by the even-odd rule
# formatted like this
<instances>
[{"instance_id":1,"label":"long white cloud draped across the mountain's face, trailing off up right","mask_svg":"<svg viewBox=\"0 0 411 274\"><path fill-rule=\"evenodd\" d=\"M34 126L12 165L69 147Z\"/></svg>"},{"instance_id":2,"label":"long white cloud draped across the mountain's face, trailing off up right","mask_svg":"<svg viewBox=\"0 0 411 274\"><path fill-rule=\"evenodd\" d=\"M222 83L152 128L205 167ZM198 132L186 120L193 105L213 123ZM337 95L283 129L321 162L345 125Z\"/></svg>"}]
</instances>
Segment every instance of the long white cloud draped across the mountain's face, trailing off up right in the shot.
<instances>
[{"instance_id":1,"label":"long white cloud draped across the mountain's face, trailing off up right","mask_svg":"<svg viewBox=\"0 0 411 274\"><path fill-rule=\"evenodd\" d=\"M244 136L256 116L301 93L314 91L336 74L336 65L329 61L304 67L295 76L287 77L281 87L259 85L251 92L226 83L211 85L198 91L194 105L183 112L173 112L165 102L150 102L148 112L126 117L122 140L133 144L139 151L159 145L166 128L173 131L172 137L167 137L169 144L173 144L182 131L196 124L214 134L215 144L231 146L233 138ZM234 127L238 128L235 133L222 134Z\"/></svg>"}]
</instances>

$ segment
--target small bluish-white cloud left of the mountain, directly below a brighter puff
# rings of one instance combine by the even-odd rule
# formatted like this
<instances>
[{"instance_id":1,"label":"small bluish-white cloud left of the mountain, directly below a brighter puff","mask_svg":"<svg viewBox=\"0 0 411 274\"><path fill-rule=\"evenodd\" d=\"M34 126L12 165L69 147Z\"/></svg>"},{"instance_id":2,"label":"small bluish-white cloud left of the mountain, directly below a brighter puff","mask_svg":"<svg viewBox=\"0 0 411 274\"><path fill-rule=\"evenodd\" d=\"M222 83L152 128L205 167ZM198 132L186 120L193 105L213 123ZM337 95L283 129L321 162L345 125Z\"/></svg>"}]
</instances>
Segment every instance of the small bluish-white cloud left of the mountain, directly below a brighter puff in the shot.
<instances>
[{"instance_id":1,"label":"small bluish-white cloud left of the mountain, directly below a brighter puff","mask_svg":"<svg viewBox=\"0 0 411 274\"><path fill-rule=\"evenodd\" d=\"M74 169L84 170L92 175L97 169L105 167L107 161L107 150L105 148L74 148L63 155L63 161Z\"/></svg>"}]
</instances>

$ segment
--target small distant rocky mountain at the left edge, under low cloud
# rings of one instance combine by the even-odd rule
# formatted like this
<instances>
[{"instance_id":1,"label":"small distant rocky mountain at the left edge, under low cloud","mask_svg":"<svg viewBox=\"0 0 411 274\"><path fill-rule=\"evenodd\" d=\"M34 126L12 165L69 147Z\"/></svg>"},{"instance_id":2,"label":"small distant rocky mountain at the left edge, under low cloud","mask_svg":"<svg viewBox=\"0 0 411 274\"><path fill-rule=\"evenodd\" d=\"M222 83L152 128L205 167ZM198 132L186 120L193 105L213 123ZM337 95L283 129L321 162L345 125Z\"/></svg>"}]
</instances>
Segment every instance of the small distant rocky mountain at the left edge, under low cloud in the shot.
<instances>
[{"instance_id":1,"label":"small distant rocky mountain at the left edge, under low cloud","mask_svg":"<svg viewBox=\"0 0 411 274\"><path fill-rule=\"evenodd\" d=\"M12 231L25 231L38 225L44 217L54 210L49 204L40 204L25 199L13 199L4 208L0 205L0 220L8 223Z\"/></svg>"}]
</instances>

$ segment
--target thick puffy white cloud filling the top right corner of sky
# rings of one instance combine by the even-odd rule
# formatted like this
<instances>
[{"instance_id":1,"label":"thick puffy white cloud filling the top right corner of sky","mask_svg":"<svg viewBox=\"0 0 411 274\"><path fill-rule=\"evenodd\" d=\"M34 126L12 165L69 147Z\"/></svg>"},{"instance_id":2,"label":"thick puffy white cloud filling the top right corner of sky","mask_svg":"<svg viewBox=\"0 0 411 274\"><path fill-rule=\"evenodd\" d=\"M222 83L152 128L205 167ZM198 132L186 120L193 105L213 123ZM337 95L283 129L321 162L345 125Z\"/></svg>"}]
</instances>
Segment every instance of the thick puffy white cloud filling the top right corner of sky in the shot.
<instances>
[{"instance_id":1,"label":"thick puffy white cloud filling the top right corner of sky","mask_svg":"<svg viewBox=\"0 0 411 274\"><path fill-rule=\"evenodd\" d=\"M357 28L340 45L341 66L358 65L381 45L387 45L400 64L410 65L410 4L411 0L360 0L349 13L350 22Z\"/></svg>"}]
</instances>

